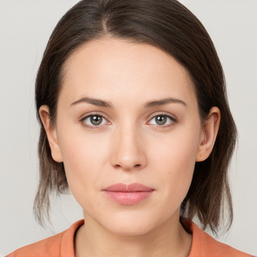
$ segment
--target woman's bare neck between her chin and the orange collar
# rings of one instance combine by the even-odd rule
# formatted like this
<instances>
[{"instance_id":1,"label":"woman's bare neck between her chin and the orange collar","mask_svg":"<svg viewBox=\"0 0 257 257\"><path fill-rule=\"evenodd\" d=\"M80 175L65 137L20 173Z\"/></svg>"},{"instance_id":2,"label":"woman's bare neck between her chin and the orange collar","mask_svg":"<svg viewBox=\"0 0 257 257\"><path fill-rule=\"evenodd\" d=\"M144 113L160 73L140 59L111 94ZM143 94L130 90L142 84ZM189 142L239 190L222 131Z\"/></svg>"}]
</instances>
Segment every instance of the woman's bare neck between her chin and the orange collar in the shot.
<instances>
[{"instance_id":1,"label":"woman's bare neck between her chin and the orange collar","mask_svg":"<svg viewBox=\"0 0 257 257\"><path fill-rule=\"evenodd\" d=\"M120 235L86 217L75 237L75 256L187 257L192 235L179 222L169 219L142 235Z\"/></svg>"}]
</instances>

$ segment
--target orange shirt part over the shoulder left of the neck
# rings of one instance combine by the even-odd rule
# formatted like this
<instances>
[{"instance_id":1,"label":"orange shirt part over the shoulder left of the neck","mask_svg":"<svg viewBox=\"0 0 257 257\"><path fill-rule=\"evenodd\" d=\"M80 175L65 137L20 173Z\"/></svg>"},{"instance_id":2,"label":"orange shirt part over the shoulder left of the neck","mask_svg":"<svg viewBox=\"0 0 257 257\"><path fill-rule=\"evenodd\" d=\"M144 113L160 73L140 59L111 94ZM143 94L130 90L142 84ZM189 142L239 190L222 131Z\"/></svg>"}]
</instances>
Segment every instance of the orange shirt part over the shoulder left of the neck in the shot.
<instances>
[{"instance_id":1,"label":"orange shirt part over the shoulder left of the neck","mask_svg":"<svg viewBox=\"0 0 257 257\"><path fill-rule=\"evenodd\" d=\"M41 241L21 247L6 257L58 257L74 256L74 234L84 223L79 220L67 230Z\"/></svg>"}]
</instances>

